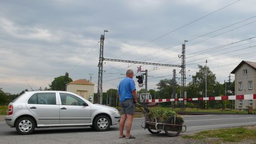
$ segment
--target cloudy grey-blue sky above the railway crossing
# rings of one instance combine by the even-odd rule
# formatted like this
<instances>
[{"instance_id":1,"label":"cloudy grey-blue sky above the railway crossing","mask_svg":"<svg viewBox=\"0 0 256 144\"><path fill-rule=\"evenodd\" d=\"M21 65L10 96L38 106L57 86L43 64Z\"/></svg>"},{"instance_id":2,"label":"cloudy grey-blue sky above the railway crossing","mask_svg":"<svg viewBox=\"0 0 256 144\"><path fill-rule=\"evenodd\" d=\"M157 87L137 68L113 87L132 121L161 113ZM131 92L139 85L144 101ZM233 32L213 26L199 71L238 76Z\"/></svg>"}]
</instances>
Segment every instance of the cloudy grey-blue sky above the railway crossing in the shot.
<instances>
[{"instance_id":1,"label":"cloudy grey-blue sky above the railway crossing","mask_svg":"<svg viewBox=\"0 0 256 144\"><path fill-rule=\"evenodd\" d=\"M33 89L49 88L68 72L73 80L93 74L96 92L104 30L109 31L104 58L181 65L178 55L188 40L187 83L206 59L224 83L242 60L256 62L255 5L255 0L2 0L0 88L12 94L30 90L27 82ZM173 69L181 77L178 67L104 61L103 91L117 88L126 70L136 73L138 66L149 70L149 89L172 79Z\"/></svg>"}]
</instances>

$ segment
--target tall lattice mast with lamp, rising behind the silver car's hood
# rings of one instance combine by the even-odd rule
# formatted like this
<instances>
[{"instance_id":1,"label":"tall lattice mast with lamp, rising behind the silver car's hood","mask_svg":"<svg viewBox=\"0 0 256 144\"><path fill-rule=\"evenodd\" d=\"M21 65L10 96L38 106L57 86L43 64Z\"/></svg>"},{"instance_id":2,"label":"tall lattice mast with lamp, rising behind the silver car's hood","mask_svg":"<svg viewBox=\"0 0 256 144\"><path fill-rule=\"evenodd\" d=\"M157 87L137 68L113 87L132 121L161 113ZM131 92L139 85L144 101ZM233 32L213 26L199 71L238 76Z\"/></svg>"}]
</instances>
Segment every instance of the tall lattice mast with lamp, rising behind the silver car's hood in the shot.
<instances>
[{"instance_id":1,"label":"tall lattice mast with lamp, rising behind the silver car's hood","mask_svg":"<svg viewBox=\"0 0 256 144\"><path fill-rule=\"evenodd\" d=\"M107 30L104 30L104 34L101 35L101 46L100 46L100 58L99 58L99 76L98 76L98 103L102 104L102 75L103 75L103 48L104 48L104 39L105 39L105 32L108 32Z\"/></svg>"}]
</instances>

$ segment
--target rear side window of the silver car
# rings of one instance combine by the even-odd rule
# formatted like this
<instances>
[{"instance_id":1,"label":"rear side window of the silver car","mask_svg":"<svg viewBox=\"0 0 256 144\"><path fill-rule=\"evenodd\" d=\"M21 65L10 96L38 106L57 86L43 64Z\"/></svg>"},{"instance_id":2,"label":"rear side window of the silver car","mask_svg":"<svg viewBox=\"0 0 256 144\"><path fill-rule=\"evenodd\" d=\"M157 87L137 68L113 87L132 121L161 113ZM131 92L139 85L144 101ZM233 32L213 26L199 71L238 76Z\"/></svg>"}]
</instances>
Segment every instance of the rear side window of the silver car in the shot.
<instances>
[{"instance_id":1,"label":"rear side window of the silver car","mask_svg":"<svg viewBox=\"0 0 256 144\"><path fill-rule=\"evenodd\" d=\"M28 99L28 104L56 105L55 93L36 93Z\"/></svg>"}]
</instances>

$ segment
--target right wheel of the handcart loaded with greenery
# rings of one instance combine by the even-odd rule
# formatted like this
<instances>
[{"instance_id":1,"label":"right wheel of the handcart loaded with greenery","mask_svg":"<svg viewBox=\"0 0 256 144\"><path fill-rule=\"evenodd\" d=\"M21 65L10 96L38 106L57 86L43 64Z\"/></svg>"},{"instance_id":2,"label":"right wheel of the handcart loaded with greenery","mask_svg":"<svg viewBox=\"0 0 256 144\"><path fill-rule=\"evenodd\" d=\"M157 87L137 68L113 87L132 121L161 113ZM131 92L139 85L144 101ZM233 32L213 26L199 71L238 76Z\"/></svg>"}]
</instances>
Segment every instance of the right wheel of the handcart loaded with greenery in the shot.
<instances>
[{"instance_id":1,"label":"right wheel of the handcart loaded with greenery","mask_svg":"<svg viewBox=\"0 0 256 144\"><path fill-rule=\"evenodd\" d=\"M174 122L175 119L175 122ZM168 124L177 124L177 125L181 125L181 121L180 119L178 119L177 117L169 117L165 120L165 123ZM170 125L165 125L164 127L165 133L169 136L169 137L176 137L177 135L180 134L181 130L182 130L182 126L170 126Z\"/></svg>"}]
</instances>

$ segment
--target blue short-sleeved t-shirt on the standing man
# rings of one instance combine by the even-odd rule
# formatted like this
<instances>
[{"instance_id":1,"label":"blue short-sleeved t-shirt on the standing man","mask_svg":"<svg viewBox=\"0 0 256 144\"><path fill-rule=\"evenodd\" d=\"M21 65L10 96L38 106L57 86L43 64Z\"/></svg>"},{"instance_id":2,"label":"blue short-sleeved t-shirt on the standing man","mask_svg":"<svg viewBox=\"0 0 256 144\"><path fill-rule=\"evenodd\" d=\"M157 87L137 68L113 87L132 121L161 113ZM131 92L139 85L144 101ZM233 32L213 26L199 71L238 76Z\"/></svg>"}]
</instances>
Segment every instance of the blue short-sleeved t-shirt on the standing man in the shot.
<instances>
[{"instance_id":1,"label":"blue short-sleeved t-shirt on the standing man","mask_svg":"<svg viewBox=\"0 0 256 144\"><path fill-rule=\"evenodd\" d=\"M123 102L128 98L133 99L133 90L136 90L133 79L126 77L121 80L118 85L118 95L120 96L120 101Z\"/></svg>"}]
</instances>

